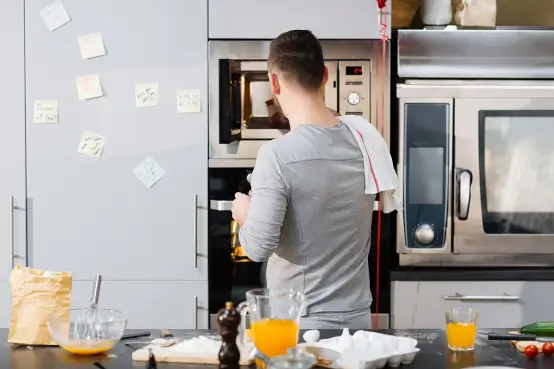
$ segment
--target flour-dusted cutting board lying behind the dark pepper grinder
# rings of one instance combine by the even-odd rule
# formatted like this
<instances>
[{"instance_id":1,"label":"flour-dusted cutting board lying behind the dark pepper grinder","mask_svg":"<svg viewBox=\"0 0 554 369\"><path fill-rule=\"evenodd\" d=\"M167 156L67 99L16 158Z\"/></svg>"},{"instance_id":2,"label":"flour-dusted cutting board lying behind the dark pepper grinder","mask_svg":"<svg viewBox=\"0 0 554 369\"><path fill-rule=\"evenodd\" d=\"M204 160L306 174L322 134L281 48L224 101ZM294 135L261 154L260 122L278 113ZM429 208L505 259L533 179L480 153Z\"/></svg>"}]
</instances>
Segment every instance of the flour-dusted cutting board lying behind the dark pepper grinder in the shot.
<instances>
[{"instance_id":1,"label":"flour-dusted cutting board lying behind the dark pepper grinder","mask_svg":"<svg viewBox=\"0 0 554 369\"><path fill-rule=\"evenodd\" d=\"M182 352L173 349L172 347L159 347L154 345L148 345L133 352L134 361L148 361L149 351L152 349L156 361L159 363L181 363L181 364L212 364L218 365L219 360L217 355L202 356L192 355L190 353ZM245 355L246 356L246 355ZM251 365L254 363L254 359L248 357L240 358L239 364L242 366Z\"/></svg>"}]
</instances>

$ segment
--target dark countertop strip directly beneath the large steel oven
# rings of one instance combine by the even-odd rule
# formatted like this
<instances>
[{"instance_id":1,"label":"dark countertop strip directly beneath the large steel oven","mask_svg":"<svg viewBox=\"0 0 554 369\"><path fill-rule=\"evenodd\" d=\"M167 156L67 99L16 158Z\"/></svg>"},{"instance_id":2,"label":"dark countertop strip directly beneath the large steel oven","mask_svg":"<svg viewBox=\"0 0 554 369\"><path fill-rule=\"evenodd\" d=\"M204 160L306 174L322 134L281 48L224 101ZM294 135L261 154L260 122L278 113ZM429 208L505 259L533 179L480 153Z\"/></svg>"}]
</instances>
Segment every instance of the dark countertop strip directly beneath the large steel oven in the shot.
<instances>
[{"instance_id":1,"label":"dark countertop strip directly beneath the large steel oven","mask_svg":"<svg viewBox=\"0 0 554 369\"><path fill-rule=\"evenodd\" d=\"M391 281L554 281L554 268L397 267Z\"/></svg>"}]
</instances>

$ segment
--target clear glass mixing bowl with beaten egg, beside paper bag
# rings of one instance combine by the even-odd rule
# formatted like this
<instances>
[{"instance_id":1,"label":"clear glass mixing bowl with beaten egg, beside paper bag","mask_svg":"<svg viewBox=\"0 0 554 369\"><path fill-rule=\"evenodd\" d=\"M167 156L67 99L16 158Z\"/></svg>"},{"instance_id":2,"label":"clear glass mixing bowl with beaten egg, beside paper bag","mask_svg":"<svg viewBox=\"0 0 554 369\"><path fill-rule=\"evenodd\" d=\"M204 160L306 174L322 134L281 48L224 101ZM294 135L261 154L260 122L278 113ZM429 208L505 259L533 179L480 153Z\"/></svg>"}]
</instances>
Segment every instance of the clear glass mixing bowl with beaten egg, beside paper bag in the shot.
<instances>
[{"instance_id":1,"label":"clear glass mixing bowl with beaten egg, beside paper bag","mask_svg":"<svg viewBox=\"0 0 554 369\"><path fill-rule=\"evenodd\" d=\"M127 326L125 313L97 308L92 320L95 324L85 324L87 311L88 308L71 309L69 319L56 315L48 318L50 335L65 351L75 355L101 354L113 348L123 336Z\"/></svg>"}]
</instances>

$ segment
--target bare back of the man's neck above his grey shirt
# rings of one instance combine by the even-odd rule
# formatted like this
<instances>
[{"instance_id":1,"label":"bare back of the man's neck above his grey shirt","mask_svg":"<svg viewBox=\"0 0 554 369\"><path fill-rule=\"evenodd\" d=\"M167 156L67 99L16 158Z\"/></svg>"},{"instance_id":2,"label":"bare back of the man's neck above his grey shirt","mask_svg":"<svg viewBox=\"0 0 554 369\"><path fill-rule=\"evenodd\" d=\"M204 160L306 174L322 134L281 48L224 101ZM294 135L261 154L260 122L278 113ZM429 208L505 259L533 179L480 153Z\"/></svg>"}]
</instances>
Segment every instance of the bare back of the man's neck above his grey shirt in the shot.
<instances>
[{"instance_id":1,"label":"bare back of the man's neck above his grey shirt","mask_svg":"<svg viewBox=\"0 0 554 369\"><path fill-rule=\"evenodd\" d=\"M340 123L340 120L325 106L325 101L320 96L291 100L291 106L286 111L291 130L304 124L332 128Z\"/></svg>"}]
</instances>

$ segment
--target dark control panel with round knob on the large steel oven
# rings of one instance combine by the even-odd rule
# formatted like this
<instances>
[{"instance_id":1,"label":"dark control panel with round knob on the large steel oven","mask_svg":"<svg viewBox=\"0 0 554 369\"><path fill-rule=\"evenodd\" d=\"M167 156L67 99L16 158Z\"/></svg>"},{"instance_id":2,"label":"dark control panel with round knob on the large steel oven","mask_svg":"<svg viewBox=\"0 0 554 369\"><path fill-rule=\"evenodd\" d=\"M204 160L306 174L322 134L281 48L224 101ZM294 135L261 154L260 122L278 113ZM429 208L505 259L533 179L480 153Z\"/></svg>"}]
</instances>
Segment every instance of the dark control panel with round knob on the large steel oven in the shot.
<instances>
[{"instance_id":1,"label":"dark control panel with round knob on the large steel oven","mask_svg":"<svg viewBox=\"0 0 554 369\"><path fill-rule=\"evenodd\" d=\"M397 252L451 252L452 99L399 99Z\"/></svg>"}]
</instances>

